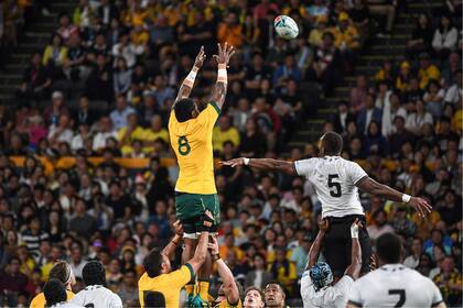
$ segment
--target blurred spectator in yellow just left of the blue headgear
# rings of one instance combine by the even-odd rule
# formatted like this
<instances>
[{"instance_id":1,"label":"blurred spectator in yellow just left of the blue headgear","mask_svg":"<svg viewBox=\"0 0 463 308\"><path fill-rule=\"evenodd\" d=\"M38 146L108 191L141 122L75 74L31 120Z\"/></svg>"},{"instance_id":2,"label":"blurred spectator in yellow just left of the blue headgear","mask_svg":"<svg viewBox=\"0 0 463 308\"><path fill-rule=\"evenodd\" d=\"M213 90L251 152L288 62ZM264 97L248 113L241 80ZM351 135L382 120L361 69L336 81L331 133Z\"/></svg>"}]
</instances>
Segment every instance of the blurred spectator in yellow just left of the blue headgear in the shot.
<instances>
[{"instance_id":1,"label":"blurred spectator in yellow just left of the blue headgear","mask_svg":"<svg viewBox=\"0 0 463 308\"><path fill-rule=\"evenodd\" d=\"M269 272L290 293L294 292L298 273L295 265L287 257L287 251L282 248L276 250L276 258L269 264Z\"/></svg>"}]
</instances>

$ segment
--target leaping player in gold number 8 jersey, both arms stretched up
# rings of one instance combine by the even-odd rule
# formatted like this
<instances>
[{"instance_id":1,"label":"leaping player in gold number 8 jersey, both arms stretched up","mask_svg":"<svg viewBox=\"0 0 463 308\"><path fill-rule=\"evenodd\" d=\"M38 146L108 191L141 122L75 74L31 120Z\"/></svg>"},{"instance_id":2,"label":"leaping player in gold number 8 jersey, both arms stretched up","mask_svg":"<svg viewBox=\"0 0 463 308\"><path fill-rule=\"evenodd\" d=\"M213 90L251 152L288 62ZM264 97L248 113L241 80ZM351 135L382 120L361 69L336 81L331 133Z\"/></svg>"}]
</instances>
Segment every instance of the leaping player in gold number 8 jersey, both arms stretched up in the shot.
<instances>
[{"instance_id":1,"label":"leaping player in gold number 8 jersey, both arms stretched up","mask_svg":"<svg viewBox=\"0 0 463 308\"><path fill-rule=\"evenodd\" d=\"M217 190L214 178L213 129L220 113L227 94L227 65L235 53L233 46L218 44L217 81L211 97L205 103L190 98L197 72L206 58L204 47L201 47L194 66L186 76L179 95L172 106L169 118L169 135L175 152L180 174L175 185L176 217L183 226L185 249L182 262L193 256L196 245L196 234L200 231L200 219L206 210L213 215L214 223L211 232L217 231L220 219ZM198 296L196 306L205 306L208 295L208 277L212 271L208 257L198 272ZM186 286L190 299L193 300L195 280Z\"/></svg>"}]
</instances>

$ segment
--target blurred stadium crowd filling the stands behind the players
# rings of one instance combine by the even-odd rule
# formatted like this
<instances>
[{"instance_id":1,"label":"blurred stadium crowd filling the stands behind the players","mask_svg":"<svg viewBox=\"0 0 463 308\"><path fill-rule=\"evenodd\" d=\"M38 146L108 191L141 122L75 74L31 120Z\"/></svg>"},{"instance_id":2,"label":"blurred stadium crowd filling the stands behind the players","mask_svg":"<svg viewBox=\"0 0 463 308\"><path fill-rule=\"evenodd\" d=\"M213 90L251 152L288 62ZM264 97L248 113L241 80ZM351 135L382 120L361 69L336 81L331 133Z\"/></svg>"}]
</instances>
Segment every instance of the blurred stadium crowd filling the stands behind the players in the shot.
<instances>
[{"instance_id":1,"label":"blurred stadium crowd filling the stands behind the players","mask_svg":"<svg viewBox=\"0 0 463 308\"><path fill-rule=\"evenodd\" d=\"M0 305L26 306L57 260L69 262L78 292L82 270L95 258L122 302L139 304L142 260L173 235L177 167L166 119L201 45L208 58L216 42L239 51L214 130L216 157L278 157L313 114L301 86L320 85L322 98L330 96L341 74L355 72L365 43L390 35L397 2L80 0L74 12L60 12L50 44L31 55L18 103L0 105ZM13 11L6 8L21 3L1 2L3 35L12 34ZM343 134L344 157L431 201L433 212L421 219L400 204L360 195L372 241L399 234L403 263L431 277L450 306L462 304L459 3L420 15L407 59L359 75L323 125ZM281 13L300 25L297 40L273 35ZM372 15L384 15L384 25ZM213 80L206 63L193 97L205 99ZM306 144L288 158L316 155L316 145ZM312 185L217 164L216 186L219 253L235 277L260 289L277 279L288 299L300 297L321 210Z\"/></svg>"}]
</instances>

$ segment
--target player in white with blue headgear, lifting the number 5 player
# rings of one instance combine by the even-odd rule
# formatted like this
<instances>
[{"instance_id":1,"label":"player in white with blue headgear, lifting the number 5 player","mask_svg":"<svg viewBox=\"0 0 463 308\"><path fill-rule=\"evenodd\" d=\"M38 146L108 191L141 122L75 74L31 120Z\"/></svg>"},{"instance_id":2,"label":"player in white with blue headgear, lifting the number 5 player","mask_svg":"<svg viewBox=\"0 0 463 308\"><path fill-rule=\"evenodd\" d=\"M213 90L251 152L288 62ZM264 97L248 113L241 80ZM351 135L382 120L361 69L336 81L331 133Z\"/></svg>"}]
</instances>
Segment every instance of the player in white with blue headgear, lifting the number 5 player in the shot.
<instances>
[{"instance_id":1,"label":"player in white with blue headgear, lifting the number 5 player","mask_svg":"<svg viewBox=\"0 0 463 308\"><path fill-rule=\"evenodd\" d=\"M351 265L344 276L333 284L333 273L330 265L319 262L323 239L330 228L326 219L319 221L320 231L308 256L308 265L301 278L301 296L304 308L342 307L347 302L347 295L358 278L362 268L362 249L358 242L358 230L363 228L357 220L351 226L352 257Z\"/></svg>"}]
</instances>

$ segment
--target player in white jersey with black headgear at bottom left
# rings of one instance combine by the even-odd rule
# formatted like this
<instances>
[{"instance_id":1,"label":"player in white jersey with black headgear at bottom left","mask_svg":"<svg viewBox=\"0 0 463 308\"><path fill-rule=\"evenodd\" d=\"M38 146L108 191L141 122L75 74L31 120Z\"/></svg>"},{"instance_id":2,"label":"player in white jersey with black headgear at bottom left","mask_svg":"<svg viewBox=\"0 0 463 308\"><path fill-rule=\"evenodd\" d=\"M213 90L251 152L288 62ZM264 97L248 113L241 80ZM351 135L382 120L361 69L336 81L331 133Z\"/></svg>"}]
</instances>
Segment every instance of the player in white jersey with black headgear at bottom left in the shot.
<instances>
[{"instance_id":1,"label":"player in white jersey with black headgear at bottom left","mask_svg":"<svg viewBox=\"0 0 463 308\"><path fill-rule=\"evenodd\" d=\"M98 261L90 261L82 270L85 288L71 302L86 308L122 308L120 297L106 288L105 267Z\"/></svg>"}]
</instances>

